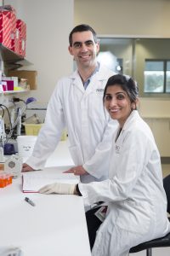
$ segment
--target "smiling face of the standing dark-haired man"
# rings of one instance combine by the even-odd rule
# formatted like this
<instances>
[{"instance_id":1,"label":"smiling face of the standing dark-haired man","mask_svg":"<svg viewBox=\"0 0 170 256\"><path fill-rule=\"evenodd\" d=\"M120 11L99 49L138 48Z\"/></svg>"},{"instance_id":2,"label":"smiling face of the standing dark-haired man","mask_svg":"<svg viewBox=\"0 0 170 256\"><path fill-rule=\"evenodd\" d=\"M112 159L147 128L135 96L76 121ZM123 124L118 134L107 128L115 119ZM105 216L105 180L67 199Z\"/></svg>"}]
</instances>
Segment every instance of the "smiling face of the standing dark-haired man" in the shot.
<instances>
[{"instance_id":1,"label":"smiling face of the standing dark-haired man","mask_svg":"<svg viewBox=\"0 0 170 256\"><path fill-rule=\"evenodd\" d=\"M75 32L72 34L72 45L69 46L69 51L74 56L77 67L94 67L99 43L94 42L94 35L90 31Z\"/></svg>"}]
</instances>

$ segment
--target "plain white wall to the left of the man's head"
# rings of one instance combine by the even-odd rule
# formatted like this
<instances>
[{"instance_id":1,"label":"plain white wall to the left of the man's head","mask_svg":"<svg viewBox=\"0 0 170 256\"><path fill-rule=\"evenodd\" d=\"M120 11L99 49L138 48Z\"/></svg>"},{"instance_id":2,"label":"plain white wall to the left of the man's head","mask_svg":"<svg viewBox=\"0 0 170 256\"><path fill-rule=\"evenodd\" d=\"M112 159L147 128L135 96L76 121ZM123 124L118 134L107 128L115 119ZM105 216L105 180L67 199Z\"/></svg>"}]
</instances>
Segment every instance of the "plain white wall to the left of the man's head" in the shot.
<instances>
[{"instance_id":1,"label":"plain white wall to the left of the man's head","mask_svg":"<svg viewBox=\"0 0 170 256\"><path fill-rule=\"evenodd\" d=\"M72 71L68 37L73 27L74 0L5 0L26 21L26 60L37 70L38 87L29 96L48 102L57 79Z\"/></svg>"}]
</instances>

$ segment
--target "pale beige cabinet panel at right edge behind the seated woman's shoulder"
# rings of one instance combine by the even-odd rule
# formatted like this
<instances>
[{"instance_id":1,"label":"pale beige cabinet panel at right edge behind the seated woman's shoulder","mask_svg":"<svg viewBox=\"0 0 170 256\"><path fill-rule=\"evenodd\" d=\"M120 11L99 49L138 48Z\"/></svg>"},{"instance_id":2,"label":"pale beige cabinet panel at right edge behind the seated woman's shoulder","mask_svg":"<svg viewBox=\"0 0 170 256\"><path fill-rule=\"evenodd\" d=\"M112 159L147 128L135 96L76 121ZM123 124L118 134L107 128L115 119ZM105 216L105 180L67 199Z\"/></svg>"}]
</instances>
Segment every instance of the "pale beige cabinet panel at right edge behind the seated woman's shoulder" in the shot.
<instances>
[{"instance_id":1,"label":"pale beige cabinet panel at right edge behind the seated woman's shoulder","mask_svg":"<svg viewBox=\"0 0 170 256\"><path fill-rule=\"evenodd\" d=\"M156 140L161 157L170 157L170 119L144 119Z\"/></svg>"}]
</instances>

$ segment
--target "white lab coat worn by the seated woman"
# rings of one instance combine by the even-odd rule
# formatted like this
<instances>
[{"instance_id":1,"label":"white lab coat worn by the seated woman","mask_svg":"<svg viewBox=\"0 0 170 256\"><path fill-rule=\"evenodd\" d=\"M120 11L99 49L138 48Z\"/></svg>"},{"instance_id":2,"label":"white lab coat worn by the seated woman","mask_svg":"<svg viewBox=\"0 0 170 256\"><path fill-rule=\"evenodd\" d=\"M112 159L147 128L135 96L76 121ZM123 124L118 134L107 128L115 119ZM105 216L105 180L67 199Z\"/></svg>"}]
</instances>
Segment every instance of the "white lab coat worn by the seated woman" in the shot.
<instances>
[{"instance_id":1,"label":"white lab coat worn by the seated woman","mask_svg":"<svg viewBox=\"0 0 170 256\"><path fill-rule=\"evenodd\" d=\"M110 179L79 184L86 205L96 201L108 204L93 256L127 256L131 247L170 231L160 155L149 126L137 110L114 142Z\"/></svg>"}]
</instances>

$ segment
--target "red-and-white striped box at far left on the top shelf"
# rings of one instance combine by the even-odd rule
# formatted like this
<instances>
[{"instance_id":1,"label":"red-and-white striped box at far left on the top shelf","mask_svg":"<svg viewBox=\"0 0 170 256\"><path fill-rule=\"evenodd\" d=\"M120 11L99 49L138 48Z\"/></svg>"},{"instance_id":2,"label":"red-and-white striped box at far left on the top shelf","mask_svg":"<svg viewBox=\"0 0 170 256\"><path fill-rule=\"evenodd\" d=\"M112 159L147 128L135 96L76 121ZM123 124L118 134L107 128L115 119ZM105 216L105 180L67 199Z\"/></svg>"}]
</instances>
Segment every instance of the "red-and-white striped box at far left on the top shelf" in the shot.
<instances>
[{"instance_id":1,"label":"red-and-white striped box at far left on the top shelf","mask_svg":"<svg viewBox=\"0 0 170 256\"><path fill-rule=\"evenodd\" d=\"M16 32L16 11L10 5L0 7L0 43L13 49Z\"/></svg>"}]
</instances>

